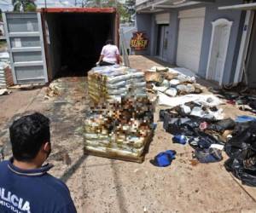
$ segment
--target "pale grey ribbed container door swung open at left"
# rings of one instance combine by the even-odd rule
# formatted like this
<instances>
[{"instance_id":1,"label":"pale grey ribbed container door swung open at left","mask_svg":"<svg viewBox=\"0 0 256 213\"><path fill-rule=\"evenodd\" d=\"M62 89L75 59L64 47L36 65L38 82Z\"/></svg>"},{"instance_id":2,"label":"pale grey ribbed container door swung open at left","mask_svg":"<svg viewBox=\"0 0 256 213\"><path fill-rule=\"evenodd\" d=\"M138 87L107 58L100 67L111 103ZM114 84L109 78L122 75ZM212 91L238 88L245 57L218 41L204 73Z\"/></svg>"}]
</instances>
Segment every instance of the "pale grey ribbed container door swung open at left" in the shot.
<instances>
[{"instance_id":1,"label":"pale grey ribbed container door swung open at left","mask_svg":"<svg viewBox=\"0 0 256 213\"><path fill-rule=\"evenodd\" d=\"M3 13L15 84L47 83L41 14Z\"/></svg>"}]
</instances>

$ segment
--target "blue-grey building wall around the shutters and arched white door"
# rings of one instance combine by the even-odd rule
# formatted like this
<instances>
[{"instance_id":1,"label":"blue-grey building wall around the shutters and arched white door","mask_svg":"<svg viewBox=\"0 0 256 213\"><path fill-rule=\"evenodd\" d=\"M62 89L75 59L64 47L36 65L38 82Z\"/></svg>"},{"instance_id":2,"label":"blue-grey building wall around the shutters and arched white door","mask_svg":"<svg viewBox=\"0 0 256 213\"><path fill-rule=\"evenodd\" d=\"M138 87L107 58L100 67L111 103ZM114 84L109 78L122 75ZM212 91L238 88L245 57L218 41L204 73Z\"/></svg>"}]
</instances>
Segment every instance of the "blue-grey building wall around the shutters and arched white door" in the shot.
<instances>
[{"instance_id":1,"label":"blue-grey building wall around the shutters and arched white door","mask_svg":"<svg viewBox=\"0 0 256 213\"><path fill-rule=\"evenodd\" d=\"M232 4L242 3L242 0L217 0L216 3L205 3L199 4L189 7L183 7L180 9L171 9L170 10L170 37L168 41L168 62L173 65L176 64L176 56L177 56L177 37L178 37L178 12L184 9L195 9L195 8L206 8L206 17L204 24L204 31L202 37L202 47L201 47L201 60L199 65L198 75L205 78L207 73L207 62L208 55L210 50L210 43L212 37L212 21L218 20L220 18L224 18L227 20L233 21L233 25L230 33L230 43L228 48L228 55L224 67L224 81L223 83L230 83L233 81L234 76L234 67L236 70L236 59L239 53L239 47L241 42L241 31L244 22L244 13L240 10L219 10L218 7ZM166 13L163 12L163 13ZM157 26L155 24L154 14L137 14L137 19L140 21L140 25L138 26L138 31L140 31L140 26L143 26L143 21L148 27L148 23L151 22L152 30L151 35L149 37L150 41L153 41L154 46L151 47L150 53L146 53L147 55L155 55L156 49L156 37L157 37ZM141 17L143 16L143 18ZM149 18L150 17L150 21ZM147 20L148 19L148 20Z\"/></svg>"}]
</instances>

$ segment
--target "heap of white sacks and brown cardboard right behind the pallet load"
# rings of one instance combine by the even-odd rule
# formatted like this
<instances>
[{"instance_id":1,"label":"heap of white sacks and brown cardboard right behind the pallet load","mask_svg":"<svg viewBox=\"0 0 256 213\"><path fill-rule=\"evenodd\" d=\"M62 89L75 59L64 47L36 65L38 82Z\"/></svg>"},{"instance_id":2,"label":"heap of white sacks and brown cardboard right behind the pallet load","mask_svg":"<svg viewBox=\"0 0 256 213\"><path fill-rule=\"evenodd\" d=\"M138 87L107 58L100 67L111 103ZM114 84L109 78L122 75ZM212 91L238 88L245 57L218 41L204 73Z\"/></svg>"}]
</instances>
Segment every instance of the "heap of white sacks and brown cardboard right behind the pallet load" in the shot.
<instances>
[{"instance_id":1,"label":"heap of white sacks and brown cardboard right behind the pallet load","mask_svg":"<svg viewBox=\"0 0 256 213\"><path fill-rule=\"evenodd\" d=\"M150 92L161 92L171 97L202 92L195 76L189 77L168 67L152 67L145 72L145 78Z\"/></svg>"}]
</instances>

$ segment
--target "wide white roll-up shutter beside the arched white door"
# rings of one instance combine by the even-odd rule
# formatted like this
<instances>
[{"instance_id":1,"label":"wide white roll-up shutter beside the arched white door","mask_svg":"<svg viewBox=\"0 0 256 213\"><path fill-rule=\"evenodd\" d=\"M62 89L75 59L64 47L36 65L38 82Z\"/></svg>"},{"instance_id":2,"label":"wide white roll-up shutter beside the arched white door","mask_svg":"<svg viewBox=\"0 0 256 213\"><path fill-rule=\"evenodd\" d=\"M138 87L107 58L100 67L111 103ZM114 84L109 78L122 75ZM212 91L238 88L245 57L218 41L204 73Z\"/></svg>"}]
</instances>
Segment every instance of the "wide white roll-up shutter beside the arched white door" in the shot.
<instances>
[{"instance_id":1,"label":"wide white roll-up shutter beside the arched white door","mask_svg":"<svg viewBox=\"0 0 256 213\"><path fill-rule=\"evenodd\" d=\"M198 72L206 9L179 12L177 66Z\"/></svg>"}]
</instances>

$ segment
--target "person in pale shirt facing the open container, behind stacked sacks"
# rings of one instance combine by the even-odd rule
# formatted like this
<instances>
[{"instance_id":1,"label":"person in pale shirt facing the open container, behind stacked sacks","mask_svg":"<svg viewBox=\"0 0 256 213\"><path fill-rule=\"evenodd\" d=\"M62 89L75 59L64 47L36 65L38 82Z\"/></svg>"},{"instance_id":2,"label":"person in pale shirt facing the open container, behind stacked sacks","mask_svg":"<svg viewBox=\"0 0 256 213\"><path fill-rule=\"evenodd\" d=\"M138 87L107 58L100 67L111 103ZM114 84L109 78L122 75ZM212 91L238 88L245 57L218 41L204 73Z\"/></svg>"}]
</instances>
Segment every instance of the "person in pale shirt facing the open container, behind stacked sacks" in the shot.
<instances>
[{"instance_id":1,"label":"person in pale shirt facing the open container, behind stacked sacks","mask_svg":"<svg viewBox=\"0 0 256 213\"><path fill-rule=\"evenodd\" d=\"M119 49L113 44L113 40L108 40L106 45L102 48L101 56L96 65L109 66L119 63L122 63Z\"/></svg>"}]
</instances>

